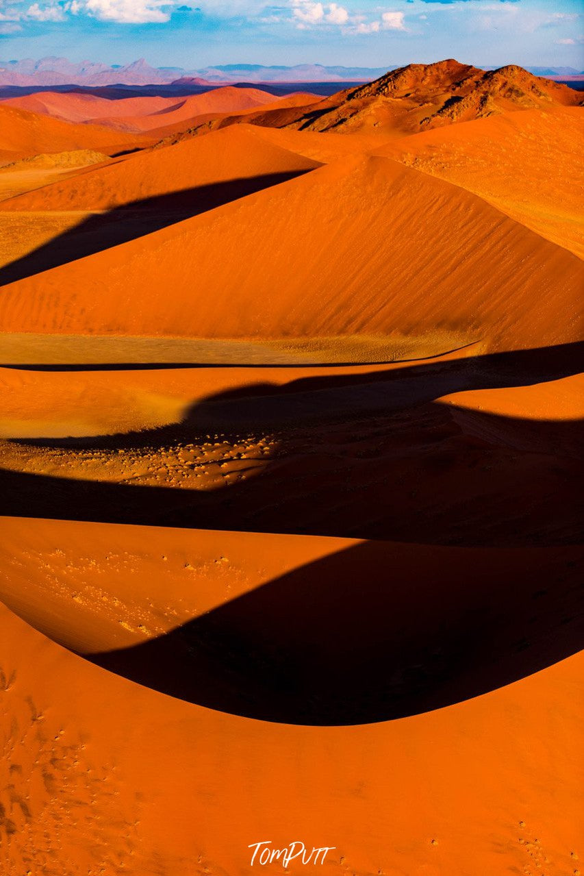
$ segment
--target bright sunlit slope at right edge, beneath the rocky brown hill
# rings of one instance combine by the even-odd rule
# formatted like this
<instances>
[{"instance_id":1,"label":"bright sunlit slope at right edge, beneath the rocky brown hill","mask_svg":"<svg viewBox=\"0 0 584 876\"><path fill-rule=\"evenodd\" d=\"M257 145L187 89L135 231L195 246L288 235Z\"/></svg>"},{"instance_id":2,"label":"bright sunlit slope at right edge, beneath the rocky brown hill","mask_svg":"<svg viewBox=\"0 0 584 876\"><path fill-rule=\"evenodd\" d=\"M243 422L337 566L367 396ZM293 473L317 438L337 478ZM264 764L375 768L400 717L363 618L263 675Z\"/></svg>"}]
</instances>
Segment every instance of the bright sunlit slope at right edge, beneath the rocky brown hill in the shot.
<instances>
[{"instance_id":1,"label":"bright sunlit slope at right edge, beneath the rocky brown hill","mask_svg":"<svg viewBox=\"0 0 584 876\"><path fill-rule=\"evenodd\" d=\"M584 109L550 106L449 125L376 152L482 195L581 257L583 139Z\"/></svg>"}]
</instances>

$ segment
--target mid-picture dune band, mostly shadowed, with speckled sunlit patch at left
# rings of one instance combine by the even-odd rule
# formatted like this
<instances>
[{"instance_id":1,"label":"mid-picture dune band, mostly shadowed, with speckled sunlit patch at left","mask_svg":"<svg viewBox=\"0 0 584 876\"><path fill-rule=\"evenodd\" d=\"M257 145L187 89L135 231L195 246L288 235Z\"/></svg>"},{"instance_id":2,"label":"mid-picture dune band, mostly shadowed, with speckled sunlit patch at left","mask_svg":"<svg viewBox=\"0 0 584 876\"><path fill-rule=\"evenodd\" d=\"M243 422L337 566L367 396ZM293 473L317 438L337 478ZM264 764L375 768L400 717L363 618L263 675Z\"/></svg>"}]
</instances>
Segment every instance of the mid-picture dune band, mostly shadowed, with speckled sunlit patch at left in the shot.
<instances>
[{"instance_id":1,"label":"mid-picture dune band, mostly shadowed, with speckled sunlit patch at left","mask_svg":"<svg viewBox=\"0 0 584 876\"><path fill-rule=\"evenodd\" d=\"M386 366L6 369L2 430L19 440L0 446L0 512L577 543L576 351L470 350Z\"/></svg>"}]
</instances>

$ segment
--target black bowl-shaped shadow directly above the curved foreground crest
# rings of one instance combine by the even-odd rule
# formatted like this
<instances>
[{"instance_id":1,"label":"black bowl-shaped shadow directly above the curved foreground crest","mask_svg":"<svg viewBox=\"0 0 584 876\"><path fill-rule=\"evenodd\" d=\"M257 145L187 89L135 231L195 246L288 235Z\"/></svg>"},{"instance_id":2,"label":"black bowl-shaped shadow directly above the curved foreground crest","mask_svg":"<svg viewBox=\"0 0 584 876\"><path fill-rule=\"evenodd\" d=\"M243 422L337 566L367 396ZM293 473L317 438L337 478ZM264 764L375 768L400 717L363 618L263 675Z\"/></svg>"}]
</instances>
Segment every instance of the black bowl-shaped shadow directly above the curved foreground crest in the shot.
<instances>
[{"instance_id":1,"label":"black bowl-shaped shadow directly above the curved foreground crest","mask_svg":"<svg viewBox=\"0 0 584 876\"><path fill-rule=\"evenodd\" d=\"M579 548L365 543L158 639L85 656L231 714L387 721L478 696L580 650L581 559Z\"/></svg>"}]
</instances>

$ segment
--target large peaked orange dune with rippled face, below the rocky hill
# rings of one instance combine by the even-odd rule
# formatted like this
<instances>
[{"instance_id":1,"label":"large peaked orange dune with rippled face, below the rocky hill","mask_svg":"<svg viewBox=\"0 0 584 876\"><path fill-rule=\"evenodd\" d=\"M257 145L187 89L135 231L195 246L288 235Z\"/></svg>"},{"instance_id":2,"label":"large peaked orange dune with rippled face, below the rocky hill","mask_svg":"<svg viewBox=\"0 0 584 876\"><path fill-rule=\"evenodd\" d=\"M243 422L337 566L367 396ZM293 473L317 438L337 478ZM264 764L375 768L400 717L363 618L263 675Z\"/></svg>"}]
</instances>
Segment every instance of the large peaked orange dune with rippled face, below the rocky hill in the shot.
<instances>
[{"instance_id":1,"label":"large peaked orange dune with rippled face, below the rocky hill","mask_svg":"<svg viewBox=\"0 0 584 876\"><path fill-rule=\"evenodd\" d=\"M572 253L475 194L391 159L350 158L5 286L0 328L199 337L440 328L520 349L578 339L581 281Z\"/></svg>"}]
</instances>

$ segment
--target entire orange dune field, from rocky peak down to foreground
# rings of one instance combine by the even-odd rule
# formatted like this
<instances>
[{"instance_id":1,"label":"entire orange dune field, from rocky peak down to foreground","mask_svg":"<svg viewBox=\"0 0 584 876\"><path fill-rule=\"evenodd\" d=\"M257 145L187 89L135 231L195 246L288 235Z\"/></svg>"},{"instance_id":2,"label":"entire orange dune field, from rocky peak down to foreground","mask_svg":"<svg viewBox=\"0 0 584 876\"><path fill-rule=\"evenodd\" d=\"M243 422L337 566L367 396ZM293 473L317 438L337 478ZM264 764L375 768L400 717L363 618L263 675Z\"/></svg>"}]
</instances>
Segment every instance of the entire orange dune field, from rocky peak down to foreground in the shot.
<instances>
[{"instance_id":1,"label":"entire orange dune field, from rocky peak down to foreground","mask_svg":"<svg viewBox=\"0 0 584 876\"><path fill-rule=\"evenodd\" d=\"M579 103L0 102L3 874L580 872Z\"/></svg>"}]
</instances>

